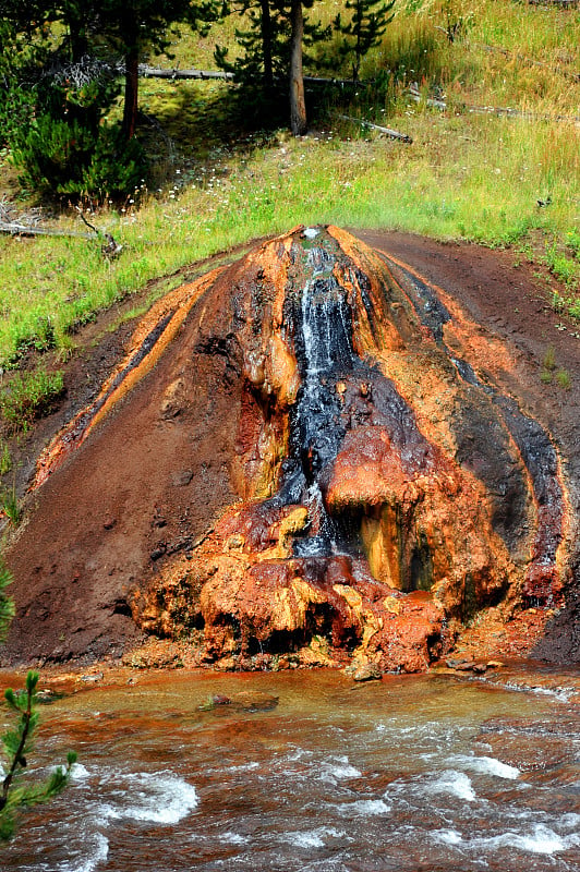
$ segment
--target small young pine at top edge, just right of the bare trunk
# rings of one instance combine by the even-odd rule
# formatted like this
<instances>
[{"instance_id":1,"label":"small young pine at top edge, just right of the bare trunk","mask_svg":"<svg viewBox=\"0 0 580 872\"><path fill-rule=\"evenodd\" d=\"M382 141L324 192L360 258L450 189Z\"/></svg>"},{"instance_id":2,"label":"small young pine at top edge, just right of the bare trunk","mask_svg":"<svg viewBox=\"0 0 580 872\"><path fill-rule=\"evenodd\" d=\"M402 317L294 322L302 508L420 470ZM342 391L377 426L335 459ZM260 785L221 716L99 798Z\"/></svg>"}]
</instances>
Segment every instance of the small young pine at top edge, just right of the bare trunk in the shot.
<instances>
[{"instance_id":1,"label":"small young pine at top edge, just right of the bare trunk","mask_svg":"<svg viewBox=\"0 0 580 872\"><path fill-rule=\"evenodd\" d=\"M346 9L352 12L350 21L343 22L340 13L334 26L341 34L340 53L352 58L352 81L358 82L364 56L378 46L387 25L392 21L395 0L347 0Z\"/></svg>"}]
</instances>

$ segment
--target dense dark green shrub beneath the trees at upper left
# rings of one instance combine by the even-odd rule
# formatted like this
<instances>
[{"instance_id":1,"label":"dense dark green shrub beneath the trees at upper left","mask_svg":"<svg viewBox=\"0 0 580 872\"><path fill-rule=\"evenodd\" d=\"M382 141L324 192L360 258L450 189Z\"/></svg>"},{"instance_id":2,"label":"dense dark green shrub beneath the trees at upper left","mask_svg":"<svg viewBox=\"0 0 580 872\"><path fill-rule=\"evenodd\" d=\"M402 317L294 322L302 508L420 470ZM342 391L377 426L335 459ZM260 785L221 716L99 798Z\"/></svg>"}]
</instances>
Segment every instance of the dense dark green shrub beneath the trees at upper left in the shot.
<instances>
[{"instance_id":1,"label":"dense dark green shrub beneath the trees at upper left","mask_svg":"<svg viewBox=\"0 0 580 872\"><path fill-rule=\"evenodd\" d=\"M119 93L114 69L90 57L70 63L57 52L12 69L4 88L0 138L25 187L102 202L138 185L143 149L105 122Z\"/></svg>"}]
</instances>

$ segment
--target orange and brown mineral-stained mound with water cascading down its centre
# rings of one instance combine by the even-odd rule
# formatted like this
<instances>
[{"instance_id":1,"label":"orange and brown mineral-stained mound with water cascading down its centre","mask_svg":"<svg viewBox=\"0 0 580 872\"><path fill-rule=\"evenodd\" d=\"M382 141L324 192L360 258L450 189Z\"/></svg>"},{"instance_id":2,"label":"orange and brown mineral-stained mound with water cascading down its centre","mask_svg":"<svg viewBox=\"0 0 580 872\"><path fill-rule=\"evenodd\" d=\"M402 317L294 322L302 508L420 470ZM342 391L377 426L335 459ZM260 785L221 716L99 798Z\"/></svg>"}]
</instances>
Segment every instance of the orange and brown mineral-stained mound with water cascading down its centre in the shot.
<instances>
[{"instance_id":1,"label":"orange and brown mineral-stained mound with water cascading down its centre","mask_svg":"<svg viewBox=\"0 0 580 872\"><path fill-rule=\"evenodd\" d=\"M298 228L157 304L39 459L10 650L98 656L131 616L200 662L414 671L490 609L557 608L575 530L551 435L499 388L507 348L396 275Z\"/></svg>"}]
</instances>

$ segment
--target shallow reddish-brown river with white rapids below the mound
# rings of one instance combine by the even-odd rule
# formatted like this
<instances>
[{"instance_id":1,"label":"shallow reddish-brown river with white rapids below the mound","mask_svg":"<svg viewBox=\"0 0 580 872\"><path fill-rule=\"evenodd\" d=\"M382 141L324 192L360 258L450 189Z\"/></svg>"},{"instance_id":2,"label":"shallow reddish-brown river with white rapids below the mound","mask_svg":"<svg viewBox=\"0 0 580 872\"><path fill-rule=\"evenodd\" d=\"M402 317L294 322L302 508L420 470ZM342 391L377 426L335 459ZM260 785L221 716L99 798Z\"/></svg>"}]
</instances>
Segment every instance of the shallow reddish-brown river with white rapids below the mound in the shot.
<instances>
[{"instance_id":1,"label":"shallow reddish-brown river with white rapids below the mound","mask_svg":"<svg viewBox=\"0 0 580 872\"><path fill-rule=\"evenodd\" d=\"M578 695L548 679L116 674L43 708L35 765L80 762L0 865L579 870ZM278 703L206 704L240 691Z\"/></svg>"}]
</instances>

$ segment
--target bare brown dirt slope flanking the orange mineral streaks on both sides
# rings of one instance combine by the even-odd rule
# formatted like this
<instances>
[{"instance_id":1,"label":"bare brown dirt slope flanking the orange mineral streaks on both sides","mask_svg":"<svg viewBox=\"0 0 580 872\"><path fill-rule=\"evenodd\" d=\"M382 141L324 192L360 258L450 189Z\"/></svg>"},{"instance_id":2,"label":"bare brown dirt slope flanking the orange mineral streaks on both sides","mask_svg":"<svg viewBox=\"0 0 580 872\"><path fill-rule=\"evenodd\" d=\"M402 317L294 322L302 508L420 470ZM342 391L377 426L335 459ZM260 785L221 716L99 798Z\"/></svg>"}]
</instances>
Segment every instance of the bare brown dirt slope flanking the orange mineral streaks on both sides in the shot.
<instances>
[{"instance_id":1,"label":"bare brown dirt slope flanking the orange mineral streaks on both sides","mask_svg":"<svg viewBox=\"0 0 580 872\"><path fill-rule=\"evenodd\" d=\"M578 517L580 328L554 314L545 281L529 265L517 266L509 252L384 231L357 235L444 288L471 318L512 347L519 380L506 387L558 441ZM202 298L188 316L184 329L191 342L200 341L196 324L207 305L212 301ZM126 326L122 336L129 338ZM558 368L570 375L568 390L541 380L549 346ZM85 353L82 364L73 362L65 408L29 441L27 473L39 439L46 440L86 403L87 382L100 385L104 371L112 370L122 350L123 342L109 336ZM195 388L186 397L180 399L178 383L188 355L178 347L118 404L78 449L75 463L65 462L27 497L23 525L7 550L16 578L17 616L4 662L119 656L142 638L131 617L130 590L150 582L157 560L186 554L237 499L228 469L241 400L240 374L231 370L235 354L203 346L197 351ZM171 397L168 385L173 386ZM81 521L87 517L88 524ZM580 658L575 597L568 596L567 608L548 627L541 656Z\"/></svg>"}]
</instances>

